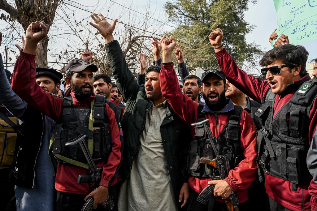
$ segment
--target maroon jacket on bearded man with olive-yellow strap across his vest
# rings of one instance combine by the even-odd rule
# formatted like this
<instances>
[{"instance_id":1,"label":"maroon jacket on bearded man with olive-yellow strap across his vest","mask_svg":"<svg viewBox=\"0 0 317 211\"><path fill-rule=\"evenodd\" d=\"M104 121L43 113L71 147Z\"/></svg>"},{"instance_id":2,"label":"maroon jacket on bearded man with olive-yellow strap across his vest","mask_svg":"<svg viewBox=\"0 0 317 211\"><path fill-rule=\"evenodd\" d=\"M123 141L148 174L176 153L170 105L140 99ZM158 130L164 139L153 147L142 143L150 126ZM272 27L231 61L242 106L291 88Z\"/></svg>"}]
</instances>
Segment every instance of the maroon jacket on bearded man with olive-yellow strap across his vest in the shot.
<instances>
[{"instance_id":1,"label":"maroon jacket on bearded man with olive-yellow strap across his vest","mask_svg":"<svg viewBox=\"0 0 317 211\"><path fill-rule=\"evenodd\" d=\"M36 65L34 58L35 54L27 54L23 51L20 52L20 56L16 60L12 74L12 90L33 108L57 121L61 115L63 99L44 92L42 88L38 86L35 79ZM75 98L73 92L71 92L70 95L73 97L74 107L90 108L91 102L95 98L95 95L91 95L89 98L81 102ZM116 183L114 174L119 170L118 165L121 159L121 142L119 128L114 116L114 112L108 104L105 104L105 110L109 119L112 151L107 160L102 160L99 163L96 163L96 166L103 167L100 185L109 187L110 185ZM55 189L61 192L87 195L89 193L89 184L77 183L77 177L80 174L87 174L87 170L81 167L58 163Z\"/></svg>"}]
</instances>

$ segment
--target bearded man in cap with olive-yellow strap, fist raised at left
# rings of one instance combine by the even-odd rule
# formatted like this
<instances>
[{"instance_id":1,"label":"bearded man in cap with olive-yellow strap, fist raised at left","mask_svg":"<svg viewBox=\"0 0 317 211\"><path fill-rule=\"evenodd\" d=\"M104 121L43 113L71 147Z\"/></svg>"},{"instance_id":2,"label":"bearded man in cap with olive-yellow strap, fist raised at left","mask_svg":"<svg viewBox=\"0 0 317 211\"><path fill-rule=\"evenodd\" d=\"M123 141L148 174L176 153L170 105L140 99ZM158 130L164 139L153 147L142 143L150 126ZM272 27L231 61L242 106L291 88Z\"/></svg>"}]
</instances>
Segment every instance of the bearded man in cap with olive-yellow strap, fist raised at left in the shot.
<instances>
[{"instance_id":1,"label":"bearded man in cap with olive-yellow strap, fist raised at left","mask_svg":"<svg viewBox=\"0 0 317 211\"><path fill-rule=\"evenodd\" d=\"M65 98L44 92L37 85L35 51L37 43L47 36L48 30L49 26L39 21L32 22L27 28L25 46L13 71L12 89L28 105L58 123L52 140L53 149L50 150L58 161L56 210L80 210L85 200L91 197L96 209L97 205L105 203L108 192L116 195L113 185L121 163L119 116L112 102L94 95L93 72L97 71L97 67L87 60L74 59L66 65L65 80L71 88ZM90 183L77 183L78 175L86 175L89 167L78 145L65 146L66 142L80 135L87 136L85 142L95 164L102 167L97 189Z\"/></svg>"}]
</instances>

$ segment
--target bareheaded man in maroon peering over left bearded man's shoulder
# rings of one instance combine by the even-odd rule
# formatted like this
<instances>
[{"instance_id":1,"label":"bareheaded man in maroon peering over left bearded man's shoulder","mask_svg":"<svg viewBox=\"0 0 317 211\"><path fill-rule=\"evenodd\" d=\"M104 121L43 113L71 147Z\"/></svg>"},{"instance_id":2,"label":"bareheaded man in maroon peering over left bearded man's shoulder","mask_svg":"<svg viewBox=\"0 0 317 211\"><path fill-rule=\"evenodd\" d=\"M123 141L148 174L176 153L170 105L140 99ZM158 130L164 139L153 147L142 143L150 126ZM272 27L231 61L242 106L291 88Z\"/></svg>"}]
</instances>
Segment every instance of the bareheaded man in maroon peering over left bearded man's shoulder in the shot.
<instances>
[{"instance_id":1,"label":"bareheaded man in maroon peering over left bearded man's shoulder","mask_svg":"<svg viewBox=\"0 0 317 211\"><path fill-rule=\"evenodd\" d=\"M101 94L105 96L106 99L113 102L114 105L117 106L118 114L121 120L126 106L120 103L120 101L117 98L111 96L110 91L112 86L113 85L111 83L111 78L109 75L103 73L94 75L94 93Z\"/></svg>"}]
</instances>

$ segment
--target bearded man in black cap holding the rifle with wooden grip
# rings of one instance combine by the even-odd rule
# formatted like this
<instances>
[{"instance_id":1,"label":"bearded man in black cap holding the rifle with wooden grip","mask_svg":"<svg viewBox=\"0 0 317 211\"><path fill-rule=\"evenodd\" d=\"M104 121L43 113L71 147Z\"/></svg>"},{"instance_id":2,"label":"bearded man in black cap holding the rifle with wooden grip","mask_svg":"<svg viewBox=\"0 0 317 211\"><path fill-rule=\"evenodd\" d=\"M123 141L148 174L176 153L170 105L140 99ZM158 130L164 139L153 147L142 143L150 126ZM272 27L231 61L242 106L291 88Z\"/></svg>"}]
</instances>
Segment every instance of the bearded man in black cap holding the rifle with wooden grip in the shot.
<instances>
[{"instance_id":1,"label":"bearded man in black cap holding the rifle with wooden grip","mask_svg":"<svg viewBox=\"0 0 317 211\"><path fill-rule=\"evenodd\" d=\"M221 70L211 69L202 75L205 100L203 108L183 94L171 62L171 54L175 46L173 37L166 38L162 42L163 63L160 72L162 94L186 125L190 126L198 119L202 121L208 118L208 125L215 137L219 154L227 157L231 163L228 177L224 180L211 180L213 168L197 164L200 157L211 159L215 157L210 143L206 139L204 129L190 126L192 136L196 140L191 142L189 150L188 181L191 192L188 210L226 210L223 199L229 197L232 191L238 194L240 209L251 210L247 202L247 188L256 178L256 127L248 112L240 106L233 105L230 99L226 99L228 84ZM229 134L235 135L231 137ZM214 201L214 198L210 197L209 204L204 205L197 201L197 197L208 184L216 185L214 189L216 198Z\"/></svg>"}]
</instances>

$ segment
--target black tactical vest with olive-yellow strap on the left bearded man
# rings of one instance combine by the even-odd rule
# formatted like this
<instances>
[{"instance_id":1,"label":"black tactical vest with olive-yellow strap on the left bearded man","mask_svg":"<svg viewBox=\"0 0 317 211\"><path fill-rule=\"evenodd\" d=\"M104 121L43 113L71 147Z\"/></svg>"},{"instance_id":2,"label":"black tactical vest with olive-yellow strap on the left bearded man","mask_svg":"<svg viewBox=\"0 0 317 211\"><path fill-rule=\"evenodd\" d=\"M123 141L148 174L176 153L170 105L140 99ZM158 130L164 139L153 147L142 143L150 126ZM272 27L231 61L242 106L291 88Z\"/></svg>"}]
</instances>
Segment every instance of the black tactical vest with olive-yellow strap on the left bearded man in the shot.
<instances>
[{"instance_id":1,"label":"black tactical vest with olive-yellow strap on the left bearded man","mask_svg":"<svg viewBox=\"0 0 317 211\"><path fill-rule=\"evenodd\" d=\"M104 96L96 95L92 115L93 130L91 130L89 129L91 108L74 108L72 97L63 99L63 108L59 119L60 124L55 128L53 141L53 154L57 162L78 166L82 166L80 165L81 163L87 163L79 144L65 146L65 143L81 134L86 135L85 143L88 143L88 149L90 145L89 142L92 141L92 157L94 162L107 159L112 149L110 126L107 112L105 111L105 103L107 102L110 101ZM78 162L80 162L80 164L78 164Z\"/></svg>"}]
</instances>

